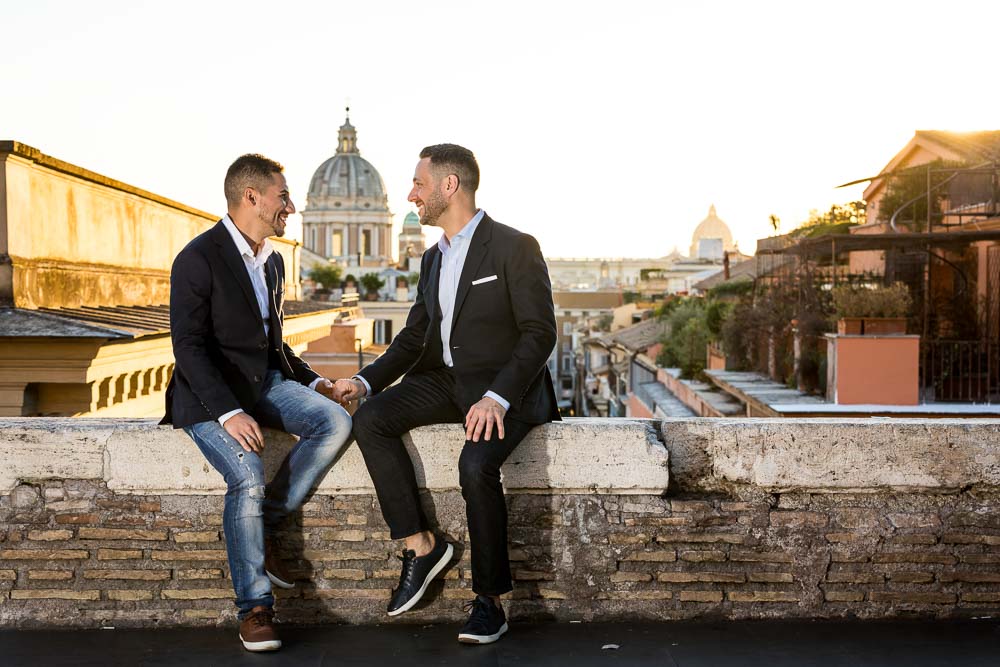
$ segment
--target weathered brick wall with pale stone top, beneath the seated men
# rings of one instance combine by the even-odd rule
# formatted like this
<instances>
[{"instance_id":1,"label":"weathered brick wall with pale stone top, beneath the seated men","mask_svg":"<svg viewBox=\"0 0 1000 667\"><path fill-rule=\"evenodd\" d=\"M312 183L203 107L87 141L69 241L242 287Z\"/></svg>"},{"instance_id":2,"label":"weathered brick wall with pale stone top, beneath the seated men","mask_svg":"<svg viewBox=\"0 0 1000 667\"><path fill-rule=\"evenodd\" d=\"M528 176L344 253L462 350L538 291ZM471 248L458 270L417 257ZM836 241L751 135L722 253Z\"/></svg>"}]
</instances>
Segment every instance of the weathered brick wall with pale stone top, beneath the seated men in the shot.
<instances>
[{"instance_id":1,"label":"weathered brick wall with pale stone top, beneath the seated men","mask_svg":"<svg viewBox=\"0 0 1000 667\"><path fill-rule=\"evenodd\" d=\"M0 423L0 455L7 454L15 468L32 471L30 477L14 475L17 481L0 495L0 624L231 622L219 487L185 488L161 478L158 492L142 493L107 456L106 470L118 471L114 476L46 475L39 462L29 465L13 445L30 450L32 437L44 433L50 442L83 442L91 437L87 427L108 428L96 421L77 426L58 420L49 428L46 421ZM824 430L830 424L833 431ZM505 470L515 576L512 617L995 613L1000 607L1000 488L989 476L1000 470L1000 456L990 453L1000 447L1000 422L869 426L829 420L811 426L778 420L581 420L539 429ZM121 429L122 437L133 442L133 455L149 447L160 458L179 459L178 479L190 479L192 468L201 465L190 458L182 434L148 422ZM144 438L136 437L143 433ZM602 433L604 441L595 443L592 438ZM892 446L895 473L907 484L885 482L884 470L870 471L883 483L860 490L863 471L823 472L824 462L841 465L830 453L831 443L838 443L840 456L848 456L850 438L859 448ZM924 471L922 485L911 484L918 477L914 466L934 452L941 456L962 447L966 438L987 442L969 453L982 474L970 473L968 485L952 487L953 471L963 469L952 459L950 476L932 478ZM112 440L103 438L104 446ZM457 458L461 434L444 427L421 429L412 444L422 478L445 480L428 484L424 500L429 516L459 543L459 556L444 581L431 589L428 603L401 622L457 621L463 617L461 602L472 596L464 503L447 475L431 468L446 466L451 455ZM906 456L901 446L908 448ZM922 447L927 456L920 455ZM665 472L667 450L674 473L670 483L665 474L655 477L657 470ZM105 454L109 451L113 447ZM741 477L737 463L745 462L749 451L758 458L744 470L756 470L752 474L758 476L766 472L784 488ZM804 454L810 451L814 454ZM632 474L612 477L613 471L604 470L621 466L614 452L634 459ZM338 466L361 474L348 457ZM796 457L801 470L782 463ZM573 462L578 481L559 472L561 461ZM548 490L532 487L537 471L528 468L539 462L561 482ZM782 467L780 475L774 466ZM822 479L829 480L828 487L817 488ZM588 480L590 486L584 483ZM654 488L657 483L661 488ZM367 484L355 480L339 492L321 488L293 518L284 536L285 555L300 581L294 591L277 592L282 619L387 620L384 606L398 576L398 545L388 539ZM852 490L831 492L842 484ZM110 488L114 485L121 488Z\"/></svg>"}]
</instances>

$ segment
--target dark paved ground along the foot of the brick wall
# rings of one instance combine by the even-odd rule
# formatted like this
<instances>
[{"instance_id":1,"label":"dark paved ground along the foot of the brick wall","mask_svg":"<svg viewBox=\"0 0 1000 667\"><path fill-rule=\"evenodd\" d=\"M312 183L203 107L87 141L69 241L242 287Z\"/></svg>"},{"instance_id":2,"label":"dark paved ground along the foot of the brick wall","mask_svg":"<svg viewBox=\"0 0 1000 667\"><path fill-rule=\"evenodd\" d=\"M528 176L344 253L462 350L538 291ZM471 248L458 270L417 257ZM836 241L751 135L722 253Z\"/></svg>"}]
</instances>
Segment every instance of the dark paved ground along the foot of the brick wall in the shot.
<instances>
[{"instance_id":1,"label":"dark paved ground along the foot of the brick wall","mask_svg":"<svg viewBox=\"0 0 1000 667\"><path fill-rule=\"evenodd\" d=\"M1000 666L994 619L522 623L490 646L460 645L455 633L445 625L289 627L283 650L255 655L243 651L235 629L5 630L0 665Z\"/></svg>"}]
</instances>

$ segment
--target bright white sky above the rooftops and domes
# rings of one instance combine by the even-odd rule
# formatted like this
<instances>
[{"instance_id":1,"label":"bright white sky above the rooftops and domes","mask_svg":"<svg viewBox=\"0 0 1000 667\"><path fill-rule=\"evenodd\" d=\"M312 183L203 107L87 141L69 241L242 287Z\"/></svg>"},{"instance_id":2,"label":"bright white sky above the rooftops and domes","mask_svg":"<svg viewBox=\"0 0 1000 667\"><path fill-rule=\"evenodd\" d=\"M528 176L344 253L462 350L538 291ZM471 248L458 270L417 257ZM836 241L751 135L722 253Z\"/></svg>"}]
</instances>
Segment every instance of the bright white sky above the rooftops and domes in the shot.
<instances>
[{"instance_id":1,"label":"bright white sky above the rooftops and domes","mask_svg":"<svg viewBox=\"0 0 1000 667\"><path fill-rule=\"evenodd\" d=\"M915 130L1000 129L995 0L3 0L0 24L0 139L216 214L262 152L301 209L349 100L397 226L420 148L460 143L550 257L686 252L713 203L752 250Z\"/></svg>"}]
</instances>

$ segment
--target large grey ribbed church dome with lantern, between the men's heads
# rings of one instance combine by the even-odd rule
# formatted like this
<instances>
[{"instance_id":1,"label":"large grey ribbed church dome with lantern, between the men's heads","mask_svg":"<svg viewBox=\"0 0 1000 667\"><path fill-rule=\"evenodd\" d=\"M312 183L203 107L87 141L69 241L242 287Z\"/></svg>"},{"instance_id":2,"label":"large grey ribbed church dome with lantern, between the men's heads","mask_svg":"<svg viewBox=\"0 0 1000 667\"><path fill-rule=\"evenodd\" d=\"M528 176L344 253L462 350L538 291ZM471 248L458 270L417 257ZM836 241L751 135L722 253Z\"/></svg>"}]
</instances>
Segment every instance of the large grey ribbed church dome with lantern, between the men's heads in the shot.
<instances>
[{"instance_id":1,"label":"large grey ribbed church dome with lantern, between the men's heads","mask_svg":"<svg viewBox=\"0 0 1000 667\"><path fill-rule=\"evenodd\" d=\"M358 151L350 116L340 127L337 153L319 166L309 182L309 208L388 211L385 183Z\"/></svg>"}]
</instances>

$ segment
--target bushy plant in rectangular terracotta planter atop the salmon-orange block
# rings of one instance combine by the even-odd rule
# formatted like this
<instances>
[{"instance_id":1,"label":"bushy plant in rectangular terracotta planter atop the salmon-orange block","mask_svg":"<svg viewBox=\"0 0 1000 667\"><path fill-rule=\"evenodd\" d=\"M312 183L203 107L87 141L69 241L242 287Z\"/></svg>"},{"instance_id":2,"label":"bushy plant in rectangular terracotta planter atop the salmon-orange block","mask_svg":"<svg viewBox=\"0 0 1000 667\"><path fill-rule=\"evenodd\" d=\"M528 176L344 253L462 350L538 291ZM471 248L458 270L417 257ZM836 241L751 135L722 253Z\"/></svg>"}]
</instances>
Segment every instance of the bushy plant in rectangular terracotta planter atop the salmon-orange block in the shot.
<instances>
[{"instance_id":1,"label":"bushy plant in rectangular terracotta planter atop the salmon-orange block","mask_svg":"<svg viewBox=\"0 0 1000 667\"><path fill-rule=\"evenodd\" d=\"M903 283L888 286L833 288L833 308L840 335L906 333L906 316L913 299Z\"/></svg>"}]
</instances>

